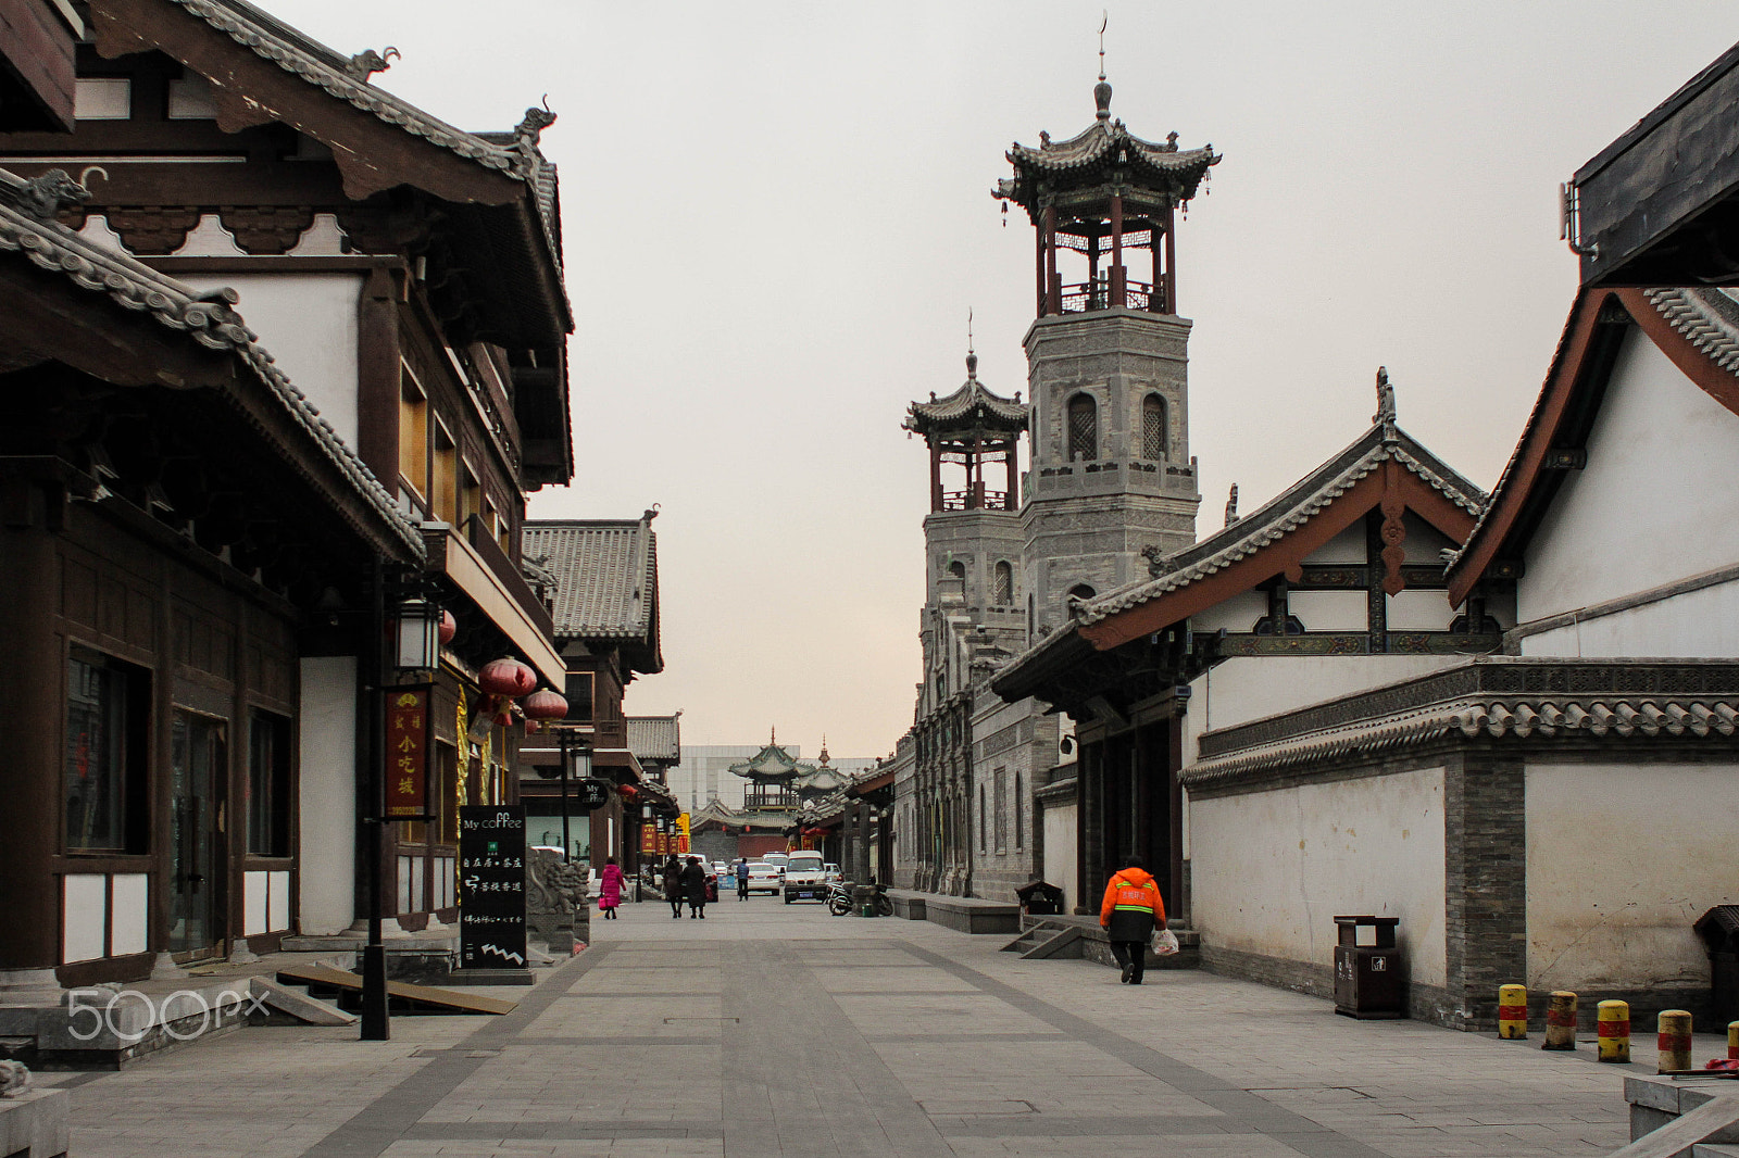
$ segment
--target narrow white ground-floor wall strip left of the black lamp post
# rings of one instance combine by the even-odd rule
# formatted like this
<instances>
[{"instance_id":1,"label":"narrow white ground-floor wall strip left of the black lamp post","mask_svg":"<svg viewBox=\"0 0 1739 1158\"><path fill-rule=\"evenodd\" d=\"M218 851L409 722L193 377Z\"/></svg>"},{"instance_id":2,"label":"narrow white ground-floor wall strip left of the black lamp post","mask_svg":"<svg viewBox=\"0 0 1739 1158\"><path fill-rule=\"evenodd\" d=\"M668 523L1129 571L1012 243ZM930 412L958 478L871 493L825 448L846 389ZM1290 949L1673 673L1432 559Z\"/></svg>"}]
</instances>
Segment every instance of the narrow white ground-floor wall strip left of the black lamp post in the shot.
<instances>
[{"instance_id":1,"label":"narrow white ground-floor wall strip left of the black lamp post","mask_svg":"<svg viewBox=\"0 0 1739 1158\"><path fill-rule=\"evenodd\" d=\"M297 927L318 937L356 916L356 661L303 659Z\"/></svg>"}]
</instances>

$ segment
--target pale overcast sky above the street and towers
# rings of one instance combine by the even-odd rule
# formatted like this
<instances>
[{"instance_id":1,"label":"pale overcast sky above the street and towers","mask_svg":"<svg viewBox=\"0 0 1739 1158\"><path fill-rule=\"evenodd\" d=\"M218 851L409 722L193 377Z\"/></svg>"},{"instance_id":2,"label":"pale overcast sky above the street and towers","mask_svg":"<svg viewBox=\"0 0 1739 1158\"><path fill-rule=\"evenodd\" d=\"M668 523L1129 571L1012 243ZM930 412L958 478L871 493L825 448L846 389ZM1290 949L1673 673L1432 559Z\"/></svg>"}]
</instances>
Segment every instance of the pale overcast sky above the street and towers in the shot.
<instances>
[{"instance_id":1,"label":"pale overcast sky above the street and towers","mask_svg":"<svg viewBox=\"0 0 1739 1158\"><path fill-rule=\"evenodd\" d=\"M1012 141L1111 111L1224 162L1177 236L1198 532L1402 426L1482 487L1576 289L1558 183L1739 40L1729 0L736 3L256 0L463 129L548 94L577 476L532 518L657 502L666 669L631 715L892 751L920 676L927 457L906 403L1026 389ZM1134 276L1141 276L1136 273Z\"/></svg>"}]
</instances>

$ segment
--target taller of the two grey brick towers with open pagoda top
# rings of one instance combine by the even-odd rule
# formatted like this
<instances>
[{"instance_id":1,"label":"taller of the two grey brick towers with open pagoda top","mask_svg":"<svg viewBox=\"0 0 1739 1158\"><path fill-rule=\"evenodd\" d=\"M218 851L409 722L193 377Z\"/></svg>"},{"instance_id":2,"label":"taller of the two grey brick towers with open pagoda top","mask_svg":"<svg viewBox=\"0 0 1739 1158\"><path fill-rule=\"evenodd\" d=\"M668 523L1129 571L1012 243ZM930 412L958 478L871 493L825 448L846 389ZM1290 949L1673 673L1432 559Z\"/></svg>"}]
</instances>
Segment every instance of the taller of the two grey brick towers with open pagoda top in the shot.
<instances>
[{"instance_id":1,"label":"taller of the two grey brick towers with open pagoda top","mask_svg":"<svg viewBox=\"0 0 1739 1158\"><path fill-rule=\"evenodd\" d=\"M1219 163L1212 146L1143 141L1111 120L1101 66L1097 118L1069 141L1007 153L995 196L1036 231L1036 313L1026 332L1031 473L1021 509L1035 636L1068 602L1148 574L1143 548L1195 541L1189 322L1177 316L1176 210ZM1134 266L1134 250L1149 259ZM1071 264L1073 270L1064 270ZM1141 266L1146 266L1143 270ZM1069 280L1064 280L1068 276Z\"/></svg>"}]
</instances>

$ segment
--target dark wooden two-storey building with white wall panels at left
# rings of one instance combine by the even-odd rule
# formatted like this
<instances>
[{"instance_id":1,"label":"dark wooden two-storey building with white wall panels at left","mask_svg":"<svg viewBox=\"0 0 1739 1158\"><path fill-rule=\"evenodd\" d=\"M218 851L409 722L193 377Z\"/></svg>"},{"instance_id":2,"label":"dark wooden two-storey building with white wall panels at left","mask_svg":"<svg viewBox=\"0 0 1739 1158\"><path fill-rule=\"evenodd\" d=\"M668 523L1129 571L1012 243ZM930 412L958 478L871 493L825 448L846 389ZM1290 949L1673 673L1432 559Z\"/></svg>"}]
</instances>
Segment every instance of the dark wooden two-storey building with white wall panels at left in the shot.
<instances>
[{"instance_id":1,"label":"dark wooden two-storey building with white wall panels at left","mask_svg":"<svg viewBox=\"0 0 1739 1158\"><path fill-rule=\"evenodd\" d=\"M390 935L438 930L454 915L457 807L516 795L518 723L482 669L510 657L515 683L565 678L518 536L525 494L572 475L556 181L537 151L551 115L463 132L374 87L379 54L334 52L247 3L117 0L89 16L73 132L14 123L0 153L26 177L82 183L47 202L77 231L54 245L90 270L113 263L141 320L179 318L233 365L223 389L167 355L129 370L139 391L80 400L87 384L57 381L64 414L38 402L49 410L14 431L17 454L71 463L99 506L146 516L127 534L37 523L59 555L7 551L14 567L35 560L19 603L87 593L38 649L43 687L83 689L66 694L83 702L77 730L70 706L43 716L59 722L56 749L80 751L101 716L104 758L127 769L108 819L80 803L85 819L43 835L57 888L37 928L54 965L78 965L66 977L141 975L155 960L141 951L186 962L289 932L355 939L370 915ZM249 376L343 476L318 480L322 496L275 466L297 435L271 435L259 402L219 402ZM172 398L217 410L153 409ZM355 501L367 511L346 513ZM311 525L327 513L365 544ZM78 551L89 581L68 588ZM202 577L174 579L186 567ZM365 643L400 605L430 603L450 622L426 666L400 671ZM381 810L383 683L433 683L424 819L358 826ZM87 779L75 770L66 789ZM243 838L224 817L259 800L277 815ZM379 850L360 835L376 828ZM28 956L42 965L38 948Z\"/></svg>"}]
</instances>

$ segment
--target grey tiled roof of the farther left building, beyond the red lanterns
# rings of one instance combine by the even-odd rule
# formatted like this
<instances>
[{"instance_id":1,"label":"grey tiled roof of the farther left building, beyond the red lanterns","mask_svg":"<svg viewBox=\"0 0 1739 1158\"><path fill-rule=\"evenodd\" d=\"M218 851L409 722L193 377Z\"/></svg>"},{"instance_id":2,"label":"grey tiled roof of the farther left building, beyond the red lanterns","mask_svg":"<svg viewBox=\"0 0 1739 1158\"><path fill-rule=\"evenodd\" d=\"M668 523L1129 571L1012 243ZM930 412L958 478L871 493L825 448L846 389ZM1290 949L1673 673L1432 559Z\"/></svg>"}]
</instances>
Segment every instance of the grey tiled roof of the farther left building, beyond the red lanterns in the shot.
<instances>
[{"instance_id":1,"label":"grey tiled roof of the farther left building, beyond the red lanterns","mask_svg":"<svg viewBox=\"0 0 1739 1158\"><path fill-rule=\"evenodd\" d=\"M650 520L527 522L523 553L556 577L556 640L657 645L657 536Z\"/></svg>"}]
</instances>

